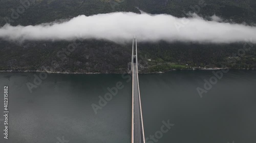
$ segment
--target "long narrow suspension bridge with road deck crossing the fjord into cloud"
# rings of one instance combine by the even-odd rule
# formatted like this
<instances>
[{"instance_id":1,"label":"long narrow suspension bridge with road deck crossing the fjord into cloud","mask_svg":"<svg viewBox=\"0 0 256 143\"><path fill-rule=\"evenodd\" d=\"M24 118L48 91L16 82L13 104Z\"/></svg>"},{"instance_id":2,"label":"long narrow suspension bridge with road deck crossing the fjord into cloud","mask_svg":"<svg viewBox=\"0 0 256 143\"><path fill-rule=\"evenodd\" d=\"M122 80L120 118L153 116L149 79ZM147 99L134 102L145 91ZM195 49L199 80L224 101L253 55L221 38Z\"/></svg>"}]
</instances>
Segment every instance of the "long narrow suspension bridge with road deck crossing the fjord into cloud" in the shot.
<instances>
[{"instance_id":1,"label":"long narrow suspension bridge with road deck crossing the fjord into cloud","mask_svg":"<svg viewBox=\"0 0 256 143\"><path fill-rule=\"evenodd\" d=\"M135 53L134 53L134 40L136 45ZM133 39L131 70L133 73L132 143L145 143L141 101L140 101L139 78L138 78L137 39Z\"/></svg>"}]
</instances>

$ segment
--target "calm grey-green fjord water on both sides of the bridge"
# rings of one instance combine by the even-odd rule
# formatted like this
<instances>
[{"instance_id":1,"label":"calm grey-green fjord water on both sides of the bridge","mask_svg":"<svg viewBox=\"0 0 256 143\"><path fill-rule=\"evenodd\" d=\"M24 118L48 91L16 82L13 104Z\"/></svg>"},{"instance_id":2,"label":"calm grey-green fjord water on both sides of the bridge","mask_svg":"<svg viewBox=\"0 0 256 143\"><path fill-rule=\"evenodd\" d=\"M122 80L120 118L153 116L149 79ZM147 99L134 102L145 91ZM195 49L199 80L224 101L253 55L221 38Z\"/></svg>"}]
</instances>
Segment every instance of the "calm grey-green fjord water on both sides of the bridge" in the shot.
<instances>
[{"instance_id":1,"label":"calm grey-green fjord water on both sides of the bridge","mask_svg":"<svg viewBox=\"0 0 256 143\"><path fill-rule=\"evenodd\" d=\"M39 73L0 73L2 95L9 86L8 142L131 142L129 76L52 73L30 93L26 83L34 83L34 75ZM211 76L212 71L201 70L139 75L145 137L160 131L163 121L174 124L148 142L256 141L256 71L230 70L200 98L197 88ZM92 104L99 105L99 96L117 82L123 88L95 114Z\"/></svg>"}]
</instances>

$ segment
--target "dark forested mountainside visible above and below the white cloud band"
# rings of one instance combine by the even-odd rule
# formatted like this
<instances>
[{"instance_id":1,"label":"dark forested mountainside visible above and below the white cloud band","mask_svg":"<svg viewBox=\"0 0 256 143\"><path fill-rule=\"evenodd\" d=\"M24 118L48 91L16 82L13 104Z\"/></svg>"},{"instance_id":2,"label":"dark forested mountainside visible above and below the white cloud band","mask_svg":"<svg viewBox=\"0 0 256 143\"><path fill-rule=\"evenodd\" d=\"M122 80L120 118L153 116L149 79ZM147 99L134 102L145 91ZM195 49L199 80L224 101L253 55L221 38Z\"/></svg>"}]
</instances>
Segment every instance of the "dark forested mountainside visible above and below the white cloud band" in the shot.
<instances>
[{"instance_id":1,"label":"dark forested mountainside visible above and below the white cloud band","mask_svg":"<svg viewBox=\"0 0 256 143\"><path fill-rule=\"evenodd\" d=\"M0 0L0 26L36 25L61 21L78 15L93 15L126 11L151 14L166 13L177 17L197 13L207 18L214 14L229 22L256 23L256 1L240 0ZM72 41L0 40L0 70L44 70L53 72L127 72L131 61L131 44L119 45L104 40L83 40L72 52L63 52ZM196 44L196 43L138 43L140 68L143 72L169 71L172 69L229 67L256 68L256 45ZM59 51L62 51L61 54ZM66 59L65 59L66 57ZM64 59L63 59L64 58ZM53 61L58 66L52 66Z\"/></svg>"}]
</instances>

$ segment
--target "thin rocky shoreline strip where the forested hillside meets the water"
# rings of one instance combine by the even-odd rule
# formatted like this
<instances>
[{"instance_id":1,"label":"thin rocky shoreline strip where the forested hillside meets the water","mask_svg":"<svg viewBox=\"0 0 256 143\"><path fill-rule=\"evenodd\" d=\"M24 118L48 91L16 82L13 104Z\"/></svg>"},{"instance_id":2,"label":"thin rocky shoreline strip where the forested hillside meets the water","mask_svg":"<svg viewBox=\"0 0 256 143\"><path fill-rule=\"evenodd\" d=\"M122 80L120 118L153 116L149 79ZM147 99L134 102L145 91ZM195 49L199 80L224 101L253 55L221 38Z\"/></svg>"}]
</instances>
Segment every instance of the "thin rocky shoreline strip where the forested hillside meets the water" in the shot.
<instances>
[{"instance_id":1,"label":"thin rocky shoreline strip where the forested hillside meets the water","mask_svg":"<svg viewBox=\"0 0 256 143\"><path fill-rule=\"evenodd\" d=\"M168 72L171 72L171 71L178 71L178 70L186 70L186 71L195 71L195 70L221 70L221 69L231 69L231 68L193 68L193 69L172 69L170 71L167 71L167 72L162 72L162 71L158 71L158 72L144 72L144 73L139 73L139 74L160 74L160 73L168 73ZM255 69L233 69L233 70L255 70ZM129 74L130 72L122 72L122 73L118 73L118 72L115 72L115 73L109 73L109 72L106 72L106 73L100 73L100 72L89 72L89 73L79 73L79 72L52 72L52 71L39 71L39 70L36 70L36 71L14 71L14 70L1 70L1 72L20 72L20 73L26 73L26 72L36 72L36 73L39 73L39 72L46 72L46 73L55 73L55 74Z\"/></svg>"}]
</instances>

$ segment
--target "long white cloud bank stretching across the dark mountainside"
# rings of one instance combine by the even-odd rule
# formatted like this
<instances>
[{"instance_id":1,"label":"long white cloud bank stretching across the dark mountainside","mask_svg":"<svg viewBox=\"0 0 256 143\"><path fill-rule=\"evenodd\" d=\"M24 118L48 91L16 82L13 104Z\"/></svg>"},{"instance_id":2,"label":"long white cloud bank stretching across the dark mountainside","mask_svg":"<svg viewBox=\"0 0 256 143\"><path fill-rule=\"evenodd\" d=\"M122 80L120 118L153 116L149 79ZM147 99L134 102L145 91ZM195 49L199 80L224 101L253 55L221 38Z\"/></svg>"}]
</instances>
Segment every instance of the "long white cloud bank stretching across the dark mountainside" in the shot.
<instances>
[{"instance_id":1,"label":"long white cloud bank stretching across the dark mountainside","mask_svg":"<svg viewBox=\"0 0 256 143\"><path fill-rule=\"evenodd\" d=\"M134 36L138 41L154 42L199 42L233 43L251 39L256 43L256 27L244 24L205 20L194 14L190 18L177 18L172 15L136 14L132 12L77 16L62 23L44 23L29 26L0 28L0 39L5 40L73 40L106 39L115 42L130 41Z\"/></svg>"}]
</instances>

